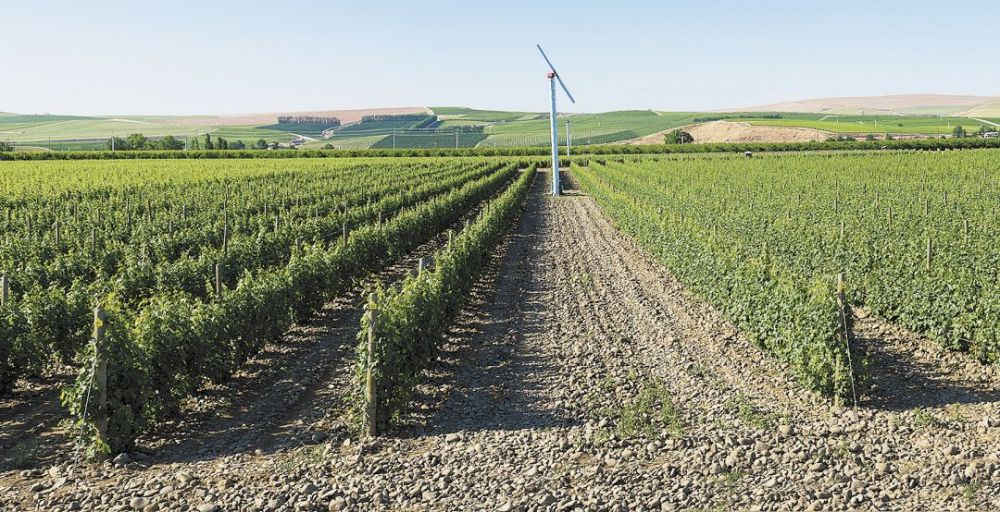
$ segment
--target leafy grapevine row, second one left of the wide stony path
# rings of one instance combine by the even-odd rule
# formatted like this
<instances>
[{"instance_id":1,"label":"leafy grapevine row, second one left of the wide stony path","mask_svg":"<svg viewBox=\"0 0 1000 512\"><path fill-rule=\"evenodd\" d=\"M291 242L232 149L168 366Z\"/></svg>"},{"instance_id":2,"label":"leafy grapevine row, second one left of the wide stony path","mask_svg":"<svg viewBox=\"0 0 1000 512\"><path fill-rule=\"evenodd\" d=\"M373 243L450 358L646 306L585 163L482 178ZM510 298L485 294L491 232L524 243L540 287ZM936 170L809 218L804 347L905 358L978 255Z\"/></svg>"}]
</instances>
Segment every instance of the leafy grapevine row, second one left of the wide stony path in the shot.
<instances>
[{"instance_id":1,"label":"leafy grapevine row, second one left of the wide stony path","mask_svg":"<svg viewBox=\"0 0 1000 512\"><path fill-rule=\"evenodd\" d=\"M114 295L105 297L106 337L87 348L88 360L103 368L97 381L107 382L107 400L91 404L91 416L80 425L95 441L90 446L131 449L137 436L176 412L206 379L227 378L292 323L454 223L515 172L505 166L380 225L360 227L346 243L304 246L283 267L246 272L221 300L164 293L131 312ZM74 417L82 415L95 367L84 365L64 396Z\"/></svg>"}]
</instances>

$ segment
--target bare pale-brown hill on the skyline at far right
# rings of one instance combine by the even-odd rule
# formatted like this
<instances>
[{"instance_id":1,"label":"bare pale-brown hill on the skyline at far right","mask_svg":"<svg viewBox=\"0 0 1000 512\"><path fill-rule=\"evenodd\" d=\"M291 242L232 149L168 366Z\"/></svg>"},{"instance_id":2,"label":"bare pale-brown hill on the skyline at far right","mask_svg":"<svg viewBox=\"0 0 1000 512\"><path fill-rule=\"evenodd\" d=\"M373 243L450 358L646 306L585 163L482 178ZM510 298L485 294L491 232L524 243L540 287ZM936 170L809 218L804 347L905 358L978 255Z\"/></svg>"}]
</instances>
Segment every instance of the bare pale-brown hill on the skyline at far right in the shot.
<instances>
[{"instance_id":1,"label":"bare pale-brown hill on the skyline at far right","mask_svg":"<svg viewBox=\"0 0 1000 512\"><path fill-rule=\"evenodd\" d=\"M813 114L897 114L897 115L955 115L987 116L1000 112L1000 97L959 96L949 94L899 94L893 96L855 96L845 98L819 98L726 109L741 112L802 112ZM971 113L977 112L977 113Z\"/></svg>"}]
</instances>

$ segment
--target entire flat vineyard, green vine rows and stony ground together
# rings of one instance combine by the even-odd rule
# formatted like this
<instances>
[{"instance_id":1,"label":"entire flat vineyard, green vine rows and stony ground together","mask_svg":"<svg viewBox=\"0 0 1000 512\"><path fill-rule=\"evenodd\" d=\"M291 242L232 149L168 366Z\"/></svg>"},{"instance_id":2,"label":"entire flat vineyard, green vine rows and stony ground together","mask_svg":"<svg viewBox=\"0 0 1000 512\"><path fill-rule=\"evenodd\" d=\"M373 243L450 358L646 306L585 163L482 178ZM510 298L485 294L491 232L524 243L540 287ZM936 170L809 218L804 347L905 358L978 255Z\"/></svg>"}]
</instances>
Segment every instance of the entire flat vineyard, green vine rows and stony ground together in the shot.
<instances>
[{"instance_id":1,"label":"entire flat vineyard, green vine rows and stony ground together","mask_svg":"<svg viewBox=\"0 0 1000 512\"><path fill-rule=\"evenodd\" d=\"M1000 505L1000 151L706 147L0 162L0 510Z\"/></svg>"}]
</instances>

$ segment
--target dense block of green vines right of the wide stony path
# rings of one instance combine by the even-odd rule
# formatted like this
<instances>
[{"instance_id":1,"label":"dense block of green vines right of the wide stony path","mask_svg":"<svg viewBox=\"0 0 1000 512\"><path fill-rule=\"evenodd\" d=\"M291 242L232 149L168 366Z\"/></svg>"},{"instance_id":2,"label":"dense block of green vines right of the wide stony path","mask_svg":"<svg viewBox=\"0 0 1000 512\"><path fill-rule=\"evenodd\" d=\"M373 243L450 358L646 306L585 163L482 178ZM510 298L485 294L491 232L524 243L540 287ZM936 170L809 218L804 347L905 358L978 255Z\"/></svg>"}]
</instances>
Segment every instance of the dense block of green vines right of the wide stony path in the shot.
<instances>
[{"instance_id":1,"label":"dense block of green vines right of the wide stony path","mask_svg":"<svg viewBox=\"0 0 1000 512\"><path fill-rule=\"evenodd\" d=\"M850 305L1000 361L998 163L993 152L721 157L595 162L578 176L805 386L856 399L864 361L849 350L838 275Z\"/></svg>"}]
</instances>

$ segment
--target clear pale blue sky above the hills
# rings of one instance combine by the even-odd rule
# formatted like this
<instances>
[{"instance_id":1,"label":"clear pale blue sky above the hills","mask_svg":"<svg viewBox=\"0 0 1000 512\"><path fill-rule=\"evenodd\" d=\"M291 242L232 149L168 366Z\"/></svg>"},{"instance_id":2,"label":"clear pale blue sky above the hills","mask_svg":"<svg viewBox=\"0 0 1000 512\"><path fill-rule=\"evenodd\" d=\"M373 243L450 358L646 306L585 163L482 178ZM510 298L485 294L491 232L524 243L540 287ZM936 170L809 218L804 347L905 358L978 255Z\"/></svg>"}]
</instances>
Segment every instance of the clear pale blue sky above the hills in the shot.
<instances>
[{"instance_id":1,"label":"clear pale blue sky above the hills","mask_svg":"<svg viewBox=\"0 0 1000 512\"><path fill-rule=\"evenodd\" d=\"M998 26L996 0L0 0L0 111L541 111L536 42L582 112L1000 95Z\"/></svg>"}]
</instances>

